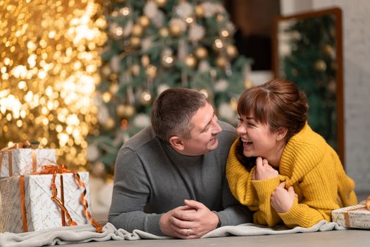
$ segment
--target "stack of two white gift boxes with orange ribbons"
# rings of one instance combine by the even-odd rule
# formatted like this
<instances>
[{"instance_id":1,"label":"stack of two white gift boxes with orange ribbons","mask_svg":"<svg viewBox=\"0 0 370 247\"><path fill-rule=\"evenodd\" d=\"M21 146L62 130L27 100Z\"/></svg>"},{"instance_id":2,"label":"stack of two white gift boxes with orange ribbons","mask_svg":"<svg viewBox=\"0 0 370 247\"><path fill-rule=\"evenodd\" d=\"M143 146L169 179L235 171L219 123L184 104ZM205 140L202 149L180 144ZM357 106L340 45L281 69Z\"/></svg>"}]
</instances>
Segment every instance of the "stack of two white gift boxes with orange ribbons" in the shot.
<instances>
[{"instance_id":1,"label":"stack of two white gift boxes with orange ribbons","mask_svg":"<svg viewBox=\"0 0 370 247\"><path fill-rule=\"evenodd\" d=\"M59 166L55 149L16 143L1 150L0 191L2 231L97 224L88 211L89 173Z\"/></svg>"}]
</instances>

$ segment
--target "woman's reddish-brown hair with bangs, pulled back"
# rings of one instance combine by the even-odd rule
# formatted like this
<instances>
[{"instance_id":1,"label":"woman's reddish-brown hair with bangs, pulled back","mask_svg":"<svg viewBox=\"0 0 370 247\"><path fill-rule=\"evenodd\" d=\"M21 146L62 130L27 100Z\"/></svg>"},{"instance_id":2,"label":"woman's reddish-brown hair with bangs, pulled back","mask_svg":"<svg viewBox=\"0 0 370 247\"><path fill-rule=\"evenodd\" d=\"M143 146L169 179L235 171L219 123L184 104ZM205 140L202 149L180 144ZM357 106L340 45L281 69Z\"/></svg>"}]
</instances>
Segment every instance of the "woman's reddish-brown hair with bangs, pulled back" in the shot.
<instances>
[{"instance_id":1,"label":"woman's reddish-brown hair with bangs, pulled back","mask_svg":"<svg viewBox=\"0 0 370 247\"><path fill-rule=\"evenodd\" d=\"M295 83L285 79L270 80L250 88L243 92L238 100L239 115L253 114L257 122L267 123L271 132L286 128L288 131L285 135L285 143L288 143L288 140L304 127L308 107L304 92L300 91ZM244 156L242 145L237 147L237 157L245 159L241 156ZM250 162L250 159L248 160Z\"/></svg>"}]
</instances>

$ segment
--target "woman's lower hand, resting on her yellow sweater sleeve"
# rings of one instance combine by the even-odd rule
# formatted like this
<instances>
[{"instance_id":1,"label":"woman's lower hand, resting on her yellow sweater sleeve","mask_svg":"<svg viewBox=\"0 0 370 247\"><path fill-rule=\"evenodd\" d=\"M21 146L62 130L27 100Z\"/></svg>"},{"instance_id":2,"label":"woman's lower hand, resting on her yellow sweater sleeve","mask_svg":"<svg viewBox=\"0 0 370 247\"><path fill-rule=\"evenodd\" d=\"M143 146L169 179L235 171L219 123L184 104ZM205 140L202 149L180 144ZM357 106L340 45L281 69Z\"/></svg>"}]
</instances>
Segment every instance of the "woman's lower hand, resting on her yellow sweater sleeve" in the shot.
<instances>
[{"instance_id":1,"label":"woman's lower hand, resting on her yellow sweater sleeve","mask_svg":"<svg viewBox=\"0 0 370 247\"><path fill-rule=\"evenodd\" d=\"M294 198L296 197L297 194L292 186L286 189L285 182L280 183L271 194L271 207L273 207L276 212L288 212L292 208Z\"/></svg>"}]
</instances>

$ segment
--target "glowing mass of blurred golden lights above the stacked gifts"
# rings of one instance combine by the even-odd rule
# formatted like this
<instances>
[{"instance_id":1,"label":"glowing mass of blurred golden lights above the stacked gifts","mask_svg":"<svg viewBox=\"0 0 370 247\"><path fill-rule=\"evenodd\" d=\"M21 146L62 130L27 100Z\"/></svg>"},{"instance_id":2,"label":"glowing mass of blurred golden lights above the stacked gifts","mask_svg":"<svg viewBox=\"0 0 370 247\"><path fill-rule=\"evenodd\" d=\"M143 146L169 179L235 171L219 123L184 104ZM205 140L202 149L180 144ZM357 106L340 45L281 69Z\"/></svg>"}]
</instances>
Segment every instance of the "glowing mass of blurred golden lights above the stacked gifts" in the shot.
<instances>
[{"instance_id":1,"label":"glowing mass of blurred golden lights above the stacked gifts","mask_svg":"<svg viewBox=\"0 0 370 247\"><path fill-rule=\"evenodd\" d=\"M38 140L84 169L106 42L101 12L96 0L0 1L0 147Z\"/></svg>"}]
</instances>

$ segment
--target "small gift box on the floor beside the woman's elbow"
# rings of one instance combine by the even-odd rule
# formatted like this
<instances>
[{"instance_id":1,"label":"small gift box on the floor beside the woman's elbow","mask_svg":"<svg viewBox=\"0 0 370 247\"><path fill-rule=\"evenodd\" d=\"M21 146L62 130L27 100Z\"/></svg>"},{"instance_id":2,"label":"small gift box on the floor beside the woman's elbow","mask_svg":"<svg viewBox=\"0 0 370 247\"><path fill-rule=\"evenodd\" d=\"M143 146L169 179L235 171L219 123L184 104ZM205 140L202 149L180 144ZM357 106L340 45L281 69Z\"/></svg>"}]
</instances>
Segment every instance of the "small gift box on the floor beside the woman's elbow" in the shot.
<instances>
[{"instance_id":1,"label":"small gift box on the floor beside the woman's elbow","mask_svg":"<svg viewBox=\"0 0 370 247\"><path fill-rule=\"evenodd\" d=\"M342 227L370 229L370 195L365 203L331 211L331 217Z\"/></svg>"}]
</instances>

